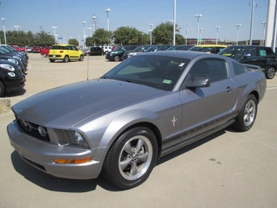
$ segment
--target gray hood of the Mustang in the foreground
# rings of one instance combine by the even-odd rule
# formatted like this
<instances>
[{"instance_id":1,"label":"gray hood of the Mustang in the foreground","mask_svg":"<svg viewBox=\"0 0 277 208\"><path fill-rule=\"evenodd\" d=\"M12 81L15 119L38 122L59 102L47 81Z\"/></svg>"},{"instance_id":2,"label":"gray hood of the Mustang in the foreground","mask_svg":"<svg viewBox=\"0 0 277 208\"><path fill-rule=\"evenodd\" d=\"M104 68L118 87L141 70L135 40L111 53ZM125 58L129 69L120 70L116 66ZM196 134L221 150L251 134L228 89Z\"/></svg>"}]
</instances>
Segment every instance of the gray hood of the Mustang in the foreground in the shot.
<instances>
[{"instance_id":1,"label":"gray hood of the Mustang in the foreground","mask_svg":"<svg viewBox=\"0 0 277 208\"><path fill-rule=\"evenodd\" d=\"M65 85L26 98L12 106L16 116L46 127L70 128L112 107L163 91L118 80L96 79Z\"/></svg>"}]
</instances>

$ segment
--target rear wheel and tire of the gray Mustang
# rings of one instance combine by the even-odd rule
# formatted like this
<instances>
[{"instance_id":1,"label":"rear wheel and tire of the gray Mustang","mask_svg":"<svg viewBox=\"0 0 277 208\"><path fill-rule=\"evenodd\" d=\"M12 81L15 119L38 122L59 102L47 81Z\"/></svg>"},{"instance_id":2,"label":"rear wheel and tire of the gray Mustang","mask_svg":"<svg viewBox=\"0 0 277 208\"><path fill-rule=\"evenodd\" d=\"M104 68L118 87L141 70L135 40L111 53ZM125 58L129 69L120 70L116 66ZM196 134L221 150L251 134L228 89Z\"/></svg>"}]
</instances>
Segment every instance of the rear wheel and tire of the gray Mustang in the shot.
<instances>
[{"instance_id":1,"label":"rear wheel and tire of the gray Mustang","mask_svg":"<svg viewBox=\"0 0 277 208\"><path fill-rule=\"evenodd\" d=\"M255 122L257 111L257 99L251 94L242 105L242 109L240 110L235 122L235 128L242 132L248 131Z\"/></svg>"}]
</instances>

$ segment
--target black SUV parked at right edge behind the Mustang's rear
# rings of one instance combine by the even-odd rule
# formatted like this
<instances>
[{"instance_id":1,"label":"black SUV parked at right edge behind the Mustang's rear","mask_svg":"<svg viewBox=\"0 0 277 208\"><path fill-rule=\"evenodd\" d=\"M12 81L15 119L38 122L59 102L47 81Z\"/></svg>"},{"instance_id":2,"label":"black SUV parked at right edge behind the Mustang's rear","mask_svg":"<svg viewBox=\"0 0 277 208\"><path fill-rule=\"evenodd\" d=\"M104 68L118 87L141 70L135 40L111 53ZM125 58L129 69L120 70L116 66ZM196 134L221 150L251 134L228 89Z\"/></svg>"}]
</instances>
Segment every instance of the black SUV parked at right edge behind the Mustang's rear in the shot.
<instances>
[{"instance_id":1,"label":"black SUV parked at right edge behind the Mustang's rear","mask_svg":"<svg viewBox=\"0 0 277 208\"><path fill-rule=\"evenodd\" d=\"M217 53L228 56L244 64L253 64L262 68L265 76L272 79L277 68L277 59L269 47L265 46L228 46Z\"/></svg>"}]
</instances>

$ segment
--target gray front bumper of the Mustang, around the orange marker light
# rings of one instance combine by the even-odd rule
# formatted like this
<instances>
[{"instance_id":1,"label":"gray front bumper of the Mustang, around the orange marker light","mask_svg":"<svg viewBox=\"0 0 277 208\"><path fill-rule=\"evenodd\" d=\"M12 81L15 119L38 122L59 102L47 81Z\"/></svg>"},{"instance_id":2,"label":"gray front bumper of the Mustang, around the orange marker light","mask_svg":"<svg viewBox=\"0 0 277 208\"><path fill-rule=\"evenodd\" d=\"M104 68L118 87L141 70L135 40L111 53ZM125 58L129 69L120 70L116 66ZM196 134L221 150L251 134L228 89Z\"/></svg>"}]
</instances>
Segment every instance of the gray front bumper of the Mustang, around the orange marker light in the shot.
<instances>
[{"instance_id":1,"label":"gray front bumper of the Mustang, around the orange marker light","mask_svg":"<svg viewBox=\"0 0 277 208\"><path fill-rule=\"evenodd\" d=\"M8 125L7 131L10 144L17 150L21 158L44 173L55 177L87 180L98 177L101 172L106 148L72 148L41 141L21 132L17 121L12 121ZM53 161L53 159L84 159L88 157L93 159L83 164L57 164Z\"/></svg>"}]
</instances>

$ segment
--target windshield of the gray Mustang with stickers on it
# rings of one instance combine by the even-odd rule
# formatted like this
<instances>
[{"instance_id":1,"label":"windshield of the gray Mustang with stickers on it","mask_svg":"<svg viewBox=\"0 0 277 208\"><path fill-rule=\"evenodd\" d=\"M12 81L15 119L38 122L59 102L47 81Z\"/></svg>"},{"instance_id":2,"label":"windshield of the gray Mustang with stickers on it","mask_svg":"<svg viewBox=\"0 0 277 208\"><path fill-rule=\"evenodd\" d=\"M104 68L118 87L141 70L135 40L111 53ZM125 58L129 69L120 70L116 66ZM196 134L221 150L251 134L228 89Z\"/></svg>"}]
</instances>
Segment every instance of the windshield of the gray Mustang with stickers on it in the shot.
<instances>
[{"instance_id":1,"label":"windshield of the gray Mustang with stickers on it","mask_svg":"<svg viewBox=\"0 0 277 208\"><path fill-rule=\"evenodd\" d=\"M138 55L128 58L101 78L123 80L171 91L190 60L156 55Z\"/></svg>"}]
</instances>

